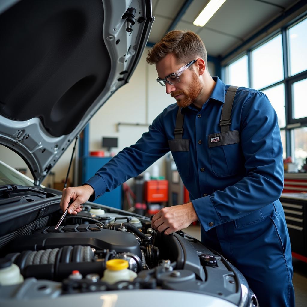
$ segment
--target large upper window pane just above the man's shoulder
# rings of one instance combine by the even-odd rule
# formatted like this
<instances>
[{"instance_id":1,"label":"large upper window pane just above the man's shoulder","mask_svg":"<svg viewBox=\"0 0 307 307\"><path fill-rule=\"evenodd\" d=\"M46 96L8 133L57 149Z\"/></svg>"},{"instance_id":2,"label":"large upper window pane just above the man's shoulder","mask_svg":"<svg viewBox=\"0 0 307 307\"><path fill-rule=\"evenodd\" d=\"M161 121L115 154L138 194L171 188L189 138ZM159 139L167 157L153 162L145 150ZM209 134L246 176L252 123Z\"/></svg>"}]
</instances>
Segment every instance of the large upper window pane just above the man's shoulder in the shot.
<instances>
[{"instance_id":1,"label":"large upper window pane just above the man's shoulder","mask_svg":"<svg viewBox=\"0 0 307 307\"><path fill-rule=\"evenodd\" d=\"M284 79L282 35L251 52L252 87L259 90Z\"/></svg>"}]
</instances>

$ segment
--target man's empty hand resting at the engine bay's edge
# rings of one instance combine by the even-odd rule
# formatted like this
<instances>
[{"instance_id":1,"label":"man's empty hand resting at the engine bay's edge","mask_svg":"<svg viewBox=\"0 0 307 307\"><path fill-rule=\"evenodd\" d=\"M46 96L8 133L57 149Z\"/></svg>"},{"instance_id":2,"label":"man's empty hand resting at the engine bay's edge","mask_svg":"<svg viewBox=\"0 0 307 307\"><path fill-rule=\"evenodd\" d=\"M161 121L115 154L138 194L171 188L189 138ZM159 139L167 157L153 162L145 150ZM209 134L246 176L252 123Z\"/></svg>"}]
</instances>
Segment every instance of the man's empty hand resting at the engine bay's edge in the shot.
<instances>
[{"instance_id":1,"label":"man's empty hand resting at the engine bay's edge","mask_svg":"<svg viewBox=\"0 0 307 307\"><path fill-rule=\"evenodd\" d=\"M151 220L151 227L165 235L184 229L198 220L192 203L162 208Z\"/></svg>"}]
</instances>

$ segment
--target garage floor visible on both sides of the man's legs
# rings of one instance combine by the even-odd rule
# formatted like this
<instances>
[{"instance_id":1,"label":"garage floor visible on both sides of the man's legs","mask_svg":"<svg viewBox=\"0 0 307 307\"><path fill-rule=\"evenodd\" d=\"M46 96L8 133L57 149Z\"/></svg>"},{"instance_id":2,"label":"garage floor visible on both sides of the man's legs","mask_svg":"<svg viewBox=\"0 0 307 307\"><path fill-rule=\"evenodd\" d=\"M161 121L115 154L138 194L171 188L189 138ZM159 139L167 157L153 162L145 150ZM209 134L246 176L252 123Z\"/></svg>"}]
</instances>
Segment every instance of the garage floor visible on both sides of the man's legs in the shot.
<instances>
[{"instance_id":1,"label":"garage floor visible on both sides of the man's legs","mask_svg":"<svg viewBox=\"0 0 307 307\"><path fill-rule=\"evenodd\" d=\"M183 231L200 240L200 226L190 226ZM293 270L295 306L305 307L307 306L307 263L293 258Z\"/></svg>"}]
</instances>

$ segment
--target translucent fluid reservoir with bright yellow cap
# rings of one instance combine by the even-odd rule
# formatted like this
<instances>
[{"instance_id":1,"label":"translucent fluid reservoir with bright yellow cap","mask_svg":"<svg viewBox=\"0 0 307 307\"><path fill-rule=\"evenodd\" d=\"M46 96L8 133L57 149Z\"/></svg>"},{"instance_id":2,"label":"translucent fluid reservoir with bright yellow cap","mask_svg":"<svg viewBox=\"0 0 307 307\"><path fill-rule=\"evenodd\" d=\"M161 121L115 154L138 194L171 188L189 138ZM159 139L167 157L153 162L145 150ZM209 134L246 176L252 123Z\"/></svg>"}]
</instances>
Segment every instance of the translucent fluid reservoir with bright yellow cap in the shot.
<instances>
[{"instance_id":1,"label":"translucent fluid reservoir with bright yellow cap","mask_svg":"<svg viewBox=\"0 0 307 307\"><path fill-rule=\"evenodd\" d=\"M111 259L106 262L106 269L103 272L103 282L114 284L119 281L133 281L138 276L135 272L128 270L129 263L123 259Z\"/></svg>"}]
</instances>

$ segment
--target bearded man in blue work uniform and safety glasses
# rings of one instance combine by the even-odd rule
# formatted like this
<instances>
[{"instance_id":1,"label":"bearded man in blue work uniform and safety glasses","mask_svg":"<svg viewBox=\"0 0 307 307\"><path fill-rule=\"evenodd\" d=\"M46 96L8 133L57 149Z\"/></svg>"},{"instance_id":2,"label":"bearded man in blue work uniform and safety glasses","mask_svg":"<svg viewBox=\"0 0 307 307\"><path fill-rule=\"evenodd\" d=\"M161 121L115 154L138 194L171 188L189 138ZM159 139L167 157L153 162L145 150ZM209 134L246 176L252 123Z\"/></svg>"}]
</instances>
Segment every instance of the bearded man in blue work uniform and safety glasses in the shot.
<instances>
[{"instance_id":1,"label":"bearded man in blue work uniform and safety glasses","mask_svg":"<svg viewBox=\"0 0 307 307\"><path fill-rule=\"evenodd\" d=\"M207 69L193 32L172 31L149 51L157 81L177 101L138 142L122 150L83 186L63 190L60 207L77 214L172 151L191 202L163 208L152 227L169 235L199 220L202 242L247 278L260 306L294 306L290 239L282 205L282 144L266 95L229 87ZM228 90L228 91L227 91Z\"/></svg>"}]
</instances>

